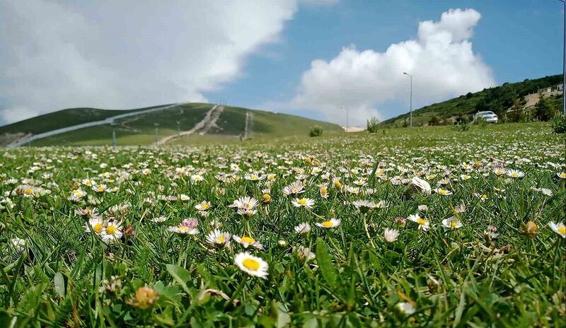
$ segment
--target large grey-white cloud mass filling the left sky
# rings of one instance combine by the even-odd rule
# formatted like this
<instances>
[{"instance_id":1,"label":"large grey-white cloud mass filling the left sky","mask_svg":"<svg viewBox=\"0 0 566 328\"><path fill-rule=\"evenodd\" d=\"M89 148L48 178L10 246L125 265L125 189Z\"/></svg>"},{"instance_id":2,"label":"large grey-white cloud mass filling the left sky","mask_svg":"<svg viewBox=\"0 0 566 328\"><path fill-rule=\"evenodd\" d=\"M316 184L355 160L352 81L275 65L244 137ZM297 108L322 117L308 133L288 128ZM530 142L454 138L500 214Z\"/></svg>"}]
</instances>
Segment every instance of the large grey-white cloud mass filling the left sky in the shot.
<instances>
[{"instance_id":1,"label":"large grey-white cloud mass filling the left sky","mask_svg":"<svg viewBox=\"0 0 566 328\"><path fill-rule=\"evenodd\" d=\"M202 101L277 42L295 0L0 1L0 117Z\"/></svg>"}]
</instances>

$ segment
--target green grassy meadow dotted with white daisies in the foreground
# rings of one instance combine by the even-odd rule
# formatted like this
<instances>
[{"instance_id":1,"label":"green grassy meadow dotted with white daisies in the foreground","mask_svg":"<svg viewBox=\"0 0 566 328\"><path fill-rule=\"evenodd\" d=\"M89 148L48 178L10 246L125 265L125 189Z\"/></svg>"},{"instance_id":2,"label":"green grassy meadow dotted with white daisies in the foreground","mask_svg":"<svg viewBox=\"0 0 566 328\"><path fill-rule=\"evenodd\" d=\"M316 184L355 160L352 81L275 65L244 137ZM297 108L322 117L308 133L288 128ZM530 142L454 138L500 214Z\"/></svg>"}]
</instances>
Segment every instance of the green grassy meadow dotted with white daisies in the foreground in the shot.
<instances>
[{"instance_id":1,"label":"green grassy meadow dotted with white daisies in the foreground","mask_svg":"<svg viewBox=\"0 0 566 328\"><path fill-rule=\"evenodd\" d=\"M541 124L0 151L2 327L560 327Z\"/></svg>"}]
</instances>

